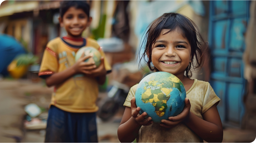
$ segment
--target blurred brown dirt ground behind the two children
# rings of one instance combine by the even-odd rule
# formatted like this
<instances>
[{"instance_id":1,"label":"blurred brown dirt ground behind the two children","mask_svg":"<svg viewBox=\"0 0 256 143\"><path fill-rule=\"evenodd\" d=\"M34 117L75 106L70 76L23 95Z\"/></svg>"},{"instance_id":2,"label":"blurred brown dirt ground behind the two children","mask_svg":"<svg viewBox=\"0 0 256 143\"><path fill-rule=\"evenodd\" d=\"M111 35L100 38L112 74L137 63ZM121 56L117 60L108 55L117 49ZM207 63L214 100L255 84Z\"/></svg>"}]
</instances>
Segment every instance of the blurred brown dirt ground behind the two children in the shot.
<instances>
[{"instance_id":1,"label":"blurred brown dirt ground behind the two children","mask_svg":"<svg viewBox=\"0 0 256 143\"><path fill-rule=\"evenodd\" d=\"M48 105L53 88L48 88L43 82L32 83L27 79L0 79L0 142L44 142L46 131L43 129L25 129L27 113L24 106L37 104L47 116ZM100 92L99 101L106 97L106 92ZM99 142L119 142L117 128L120 124L123 108L110 119L103 122L97 118ZM223 142L253 142L255 131L239 128L225 128Z\"/></svg>"}]
</instances>

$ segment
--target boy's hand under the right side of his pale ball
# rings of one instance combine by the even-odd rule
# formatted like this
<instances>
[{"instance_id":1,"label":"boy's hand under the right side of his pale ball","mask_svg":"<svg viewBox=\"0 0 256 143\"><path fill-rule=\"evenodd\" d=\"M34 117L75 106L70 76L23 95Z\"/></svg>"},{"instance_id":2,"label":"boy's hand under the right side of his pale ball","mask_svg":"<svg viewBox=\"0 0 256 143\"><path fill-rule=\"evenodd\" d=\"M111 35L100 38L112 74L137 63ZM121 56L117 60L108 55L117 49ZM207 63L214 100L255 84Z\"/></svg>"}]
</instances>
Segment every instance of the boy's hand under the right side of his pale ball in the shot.
<instances>
[{"instance_id":1,"label":"boy's hand under the right side of his pale ball","mask_svg":"<svg viewBox=\"0 0 256 143\"><path fill-rule=\"evenodd\" d=\"M104 66L104 58L101 57L100 60L101 60L100 65L96 69L87 70L84 72L86 74L86 76L98 77L98 76L106 75L107 71Z\"/></svg>"}]
</instances>

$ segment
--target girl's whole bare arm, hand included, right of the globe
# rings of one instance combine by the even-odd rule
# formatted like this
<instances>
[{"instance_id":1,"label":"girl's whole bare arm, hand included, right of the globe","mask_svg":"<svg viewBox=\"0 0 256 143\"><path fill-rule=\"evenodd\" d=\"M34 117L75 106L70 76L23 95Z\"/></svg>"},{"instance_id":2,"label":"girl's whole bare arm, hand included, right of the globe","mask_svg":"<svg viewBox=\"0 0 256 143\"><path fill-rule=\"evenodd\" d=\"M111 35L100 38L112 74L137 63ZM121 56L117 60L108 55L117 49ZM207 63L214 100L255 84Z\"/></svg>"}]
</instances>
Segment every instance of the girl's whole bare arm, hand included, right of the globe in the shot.
<instances>
[{"instance_id":1,"label":"girl's whole bare arm, hand included, right of the globe","mask_svg":"<svg viewBox=\"0 0 256 143\"><path fill-rule=\"evenodd\" d=\"M184 122L188 128L193 130L206 142L222 142L223 129L220 115L216 107L217 104L218 102L204 112L202 114L204 119L201 119L190 112L191 104L188 98L186 98L184 110L175 117L169 117L169 120L162 120L164 124L160 125L166 128L171 128L173 125Z\"/></svg>"}]
</instances>

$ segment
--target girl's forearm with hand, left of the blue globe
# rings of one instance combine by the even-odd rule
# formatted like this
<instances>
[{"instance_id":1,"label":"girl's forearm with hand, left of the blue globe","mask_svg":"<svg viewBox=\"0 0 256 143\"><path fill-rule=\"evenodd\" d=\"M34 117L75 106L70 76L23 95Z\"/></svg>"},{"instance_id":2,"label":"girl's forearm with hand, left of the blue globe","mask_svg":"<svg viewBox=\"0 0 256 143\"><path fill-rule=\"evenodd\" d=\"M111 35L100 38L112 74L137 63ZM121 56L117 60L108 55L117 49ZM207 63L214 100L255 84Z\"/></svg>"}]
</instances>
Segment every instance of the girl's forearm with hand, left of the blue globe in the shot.
<instances>
[{"instance_id":1,"label":"girl's forearm with hand, left of the blue globe","mask_svg":"<svg viewBox=\"0 0 256 143\"><path fill-rule=\"evenodd\" d=\"M120 142L133 142L137 137L142 125L150 125L153 123L151 117L145 119L146 112L139 115L140 108L136 107L135 97L131 100L131 108L126 107L123 113L123 118L117 130L118 139Z\"/></svg>"}]
</instances>

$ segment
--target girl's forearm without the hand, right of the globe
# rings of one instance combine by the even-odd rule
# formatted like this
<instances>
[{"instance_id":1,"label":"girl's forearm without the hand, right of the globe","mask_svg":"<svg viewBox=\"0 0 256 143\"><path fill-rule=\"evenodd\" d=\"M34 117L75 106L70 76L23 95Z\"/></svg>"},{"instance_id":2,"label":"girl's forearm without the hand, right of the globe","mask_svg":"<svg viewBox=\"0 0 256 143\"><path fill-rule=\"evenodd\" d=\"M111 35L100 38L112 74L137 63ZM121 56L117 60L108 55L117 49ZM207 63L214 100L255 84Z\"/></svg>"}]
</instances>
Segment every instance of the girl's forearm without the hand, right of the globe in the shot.
<instances>
[{"instance_id":1,"label":"girl's forearm without the hand, right of the globe","mask_svg":"<svg viewBox=\"0 0 256 143\"><path fill-rule=\"evenodd\" d=\"M192 112L190 112L185 124L206 142L222 142L223 129L197 117Z\"/></svg>"}]
</instances>

